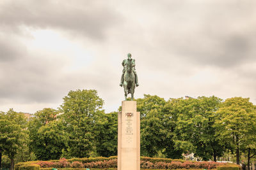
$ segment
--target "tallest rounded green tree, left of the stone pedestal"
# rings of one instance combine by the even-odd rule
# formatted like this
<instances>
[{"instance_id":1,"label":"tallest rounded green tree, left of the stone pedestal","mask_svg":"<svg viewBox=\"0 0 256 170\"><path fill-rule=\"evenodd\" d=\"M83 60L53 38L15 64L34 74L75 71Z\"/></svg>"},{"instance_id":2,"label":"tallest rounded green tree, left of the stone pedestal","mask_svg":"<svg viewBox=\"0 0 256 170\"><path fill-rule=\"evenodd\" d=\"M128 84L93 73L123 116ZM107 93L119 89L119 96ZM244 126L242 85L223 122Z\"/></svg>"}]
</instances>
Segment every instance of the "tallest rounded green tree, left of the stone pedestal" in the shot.
<instances>
[{"instance_id":1,"label":"tallest rounded green tree, left of the stone pedestal","mask_svg":"<svg viewBox=\"0 0 256 170\"><path fill-rule=\"evenodd\" d=\"M103 127L104 101L96 90L76 90L63 98L61 111L68 132L69 157L89 157L95 152L95 140Z\"/></svg>"}]
</instances>

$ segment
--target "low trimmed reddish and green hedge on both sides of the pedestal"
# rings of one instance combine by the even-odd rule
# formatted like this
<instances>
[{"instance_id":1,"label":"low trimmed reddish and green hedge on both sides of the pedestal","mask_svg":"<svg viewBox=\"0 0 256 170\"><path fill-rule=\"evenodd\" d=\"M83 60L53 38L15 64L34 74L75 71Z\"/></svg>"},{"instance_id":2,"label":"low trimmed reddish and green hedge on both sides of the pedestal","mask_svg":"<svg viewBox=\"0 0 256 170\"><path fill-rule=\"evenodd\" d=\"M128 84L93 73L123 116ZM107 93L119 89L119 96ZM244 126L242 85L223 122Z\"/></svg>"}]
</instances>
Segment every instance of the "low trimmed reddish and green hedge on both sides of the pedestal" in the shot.
<instances>
[{"instance_id":1,"label":"low trimmed reddish and green hedge on both sides of the pedestal","mask_svg":"<svg viewBox=\"0 0 256 170\"><path fill-rule=\"evenodd\" d=\"M15 165L15 170L51 170L52 167L58 169L116 169L117 157L96 157L82 159L65 159L48 160L48 161L31 161L22 162ZM141 157L141 169L216 169L218 170L241 170L239 166L234 164L225 164L220 162L196 162L180 159L161 159ZM219 168L220 167L220 168ZM222 169L221 169L222 168ZM228 169L229 168L229 169Z\"/></svg>"}]
</instances>

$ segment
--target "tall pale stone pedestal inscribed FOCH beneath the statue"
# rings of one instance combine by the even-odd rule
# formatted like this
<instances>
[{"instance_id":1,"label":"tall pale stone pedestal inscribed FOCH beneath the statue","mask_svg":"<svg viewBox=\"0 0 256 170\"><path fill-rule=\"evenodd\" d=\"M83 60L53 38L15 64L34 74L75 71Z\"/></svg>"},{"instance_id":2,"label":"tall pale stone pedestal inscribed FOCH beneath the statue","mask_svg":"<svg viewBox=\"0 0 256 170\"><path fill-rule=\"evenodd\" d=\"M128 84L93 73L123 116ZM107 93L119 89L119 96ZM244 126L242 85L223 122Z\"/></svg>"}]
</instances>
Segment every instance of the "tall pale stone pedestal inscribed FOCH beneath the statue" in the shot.
<instances>
[{"instance_id":1,"label":"tall pale stone pedestal inscribed FOCH beneath the statue","mask_svg":"<svg viewBox=\"0 0 256 170\"><path fill-rule=\"evenodd\" d=\"M118 170L140 170L140 112L136 101L122 101L118 112Z\"/></svg>"}]
</instances>

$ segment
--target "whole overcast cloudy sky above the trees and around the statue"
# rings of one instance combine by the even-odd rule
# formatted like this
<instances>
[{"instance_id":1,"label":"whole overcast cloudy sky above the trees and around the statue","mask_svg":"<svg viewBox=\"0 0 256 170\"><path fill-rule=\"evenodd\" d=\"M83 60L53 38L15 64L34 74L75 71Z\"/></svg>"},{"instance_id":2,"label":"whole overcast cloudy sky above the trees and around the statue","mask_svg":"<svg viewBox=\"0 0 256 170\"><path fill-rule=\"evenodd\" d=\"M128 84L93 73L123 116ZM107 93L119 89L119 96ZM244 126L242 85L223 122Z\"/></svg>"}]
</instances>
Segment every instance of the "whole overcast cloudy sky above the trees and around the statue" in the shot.
<instances>
[{"instance_id":1,"label":"whole overcast cloudy sky above the trees and around the statue","mask_svg":"<svg viewBox=\"0 0 256 170\"><path fill-rule=\"evenodd\" d=\"M135 98L256 104L255 47L255 0L1 0L0 110L56 109L70 90L95 89L116 111L127 53Z\"/></svg>"}]
</instances>

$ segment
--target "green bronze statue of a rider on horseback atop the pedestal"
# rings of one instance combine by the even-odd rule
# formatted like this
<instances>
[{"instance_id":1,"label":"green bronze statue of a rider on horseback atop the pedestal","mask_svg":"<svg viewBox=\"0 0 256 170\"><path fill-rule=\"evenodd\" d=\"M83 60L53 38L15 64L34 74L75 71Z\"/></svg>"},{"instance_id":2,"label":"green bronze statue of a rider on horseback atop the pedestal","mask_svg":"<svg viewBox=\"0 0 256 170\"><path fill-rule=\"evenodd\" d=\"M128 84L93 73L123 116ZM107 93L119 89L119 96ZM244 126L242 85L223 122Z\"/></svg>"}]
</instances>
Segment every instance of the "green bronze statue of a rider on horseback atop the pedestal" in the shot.
<instances>
[{"instance_id":1,"label":"green bronze statue of a rider on horseback atop the pedestal","mask_svg":"<svg viewBox=\"0 0 256 170\"><path fill-rule=\"evenodd\" d=\"M135 59L131 58L131 53L128 53L127 57L128 59L125 59L122 62L122 66L124 67L124 69L120 83L121 87L124 85L125 101L127 100L127 94L131 94L131 99L133 100L135 85L136 87L139 86L138 76L135 71Z\"/></svg>"}]
</instances>

